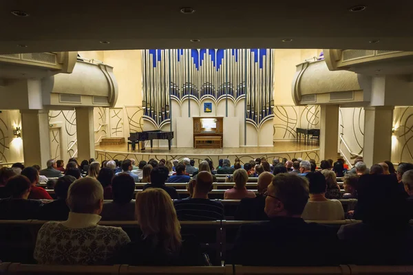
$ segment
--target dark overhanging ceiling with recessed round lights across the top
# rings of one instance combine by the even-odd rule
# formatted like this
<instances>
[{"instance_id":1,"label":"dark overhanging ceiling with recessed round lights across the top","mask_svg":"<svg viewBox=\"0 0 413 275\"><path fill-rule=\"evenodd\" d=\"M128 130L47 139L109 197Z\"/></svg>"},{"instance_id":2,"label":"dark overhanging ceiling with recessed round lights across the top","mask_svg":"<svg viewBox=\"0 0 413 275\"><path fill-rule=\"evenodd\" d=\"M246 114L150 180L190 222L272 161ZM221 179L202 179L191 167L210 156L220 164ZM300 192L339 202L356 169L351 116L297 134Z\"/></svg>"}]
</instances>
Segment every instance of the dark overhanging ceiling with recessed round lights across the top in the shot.
<instances>
[{"instance_id":1,"label":"dark overhanging ceiling with recessed round lights across the top","mask_svg":"<svg viewBox=\"0 0 413 275\"><path fill-rule=\"evenodd\" d=\"M360 4L366 10L348 11ZM182 14L182 7L195 12ZM13 10L30 16L16 17ZM0 54L195 47L413 50L412 27L411 0L2 0Z\"/></svg>"}]
</instances>

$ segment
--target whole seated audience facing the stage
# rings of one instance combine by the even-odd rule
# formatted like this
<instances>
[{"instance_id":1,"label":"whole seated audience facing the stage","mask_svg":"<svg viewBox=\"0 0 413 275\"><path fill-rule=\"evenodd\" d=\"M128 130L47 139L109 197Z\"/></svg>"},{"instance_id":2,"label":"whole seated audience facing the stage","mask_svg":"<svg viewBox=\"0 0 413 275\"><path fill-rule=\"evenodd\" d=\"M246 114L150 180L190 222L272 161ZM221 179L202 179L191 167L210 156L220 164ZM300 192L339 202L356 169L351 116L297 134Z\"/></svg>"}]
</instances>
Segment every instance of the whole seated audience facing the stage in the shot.
<instances>
[{"instance_id":1,"label":"whole seated audience facing the stage","mask_svg":"<svg viewBox=\"0 0 413 275\"><path fill-rule=\"evenodd\" d=\"M220 159L213 167L149 159L47 161L47 168L13 164L0 169L0 219L39 219L34 259L59 265L208 265L206 251L180 221L224 220L224 205L209 199L216 176L226 174L233 188L224 199L240 200L240 227L228 263L240 265L405 265L412 264L413 164L391 162L367 168L363 159L350 169L343 159L254 159L241 164ZM41 177L43 177L41 179ZM257 193L247 190L258 177ZM344 194L337 183L343 179ZM49 179L50 178L50 179ZM47 182L56 199L39 186ZM136 183L145 184L136 192ZM189 197L165 183L188 183ZM136 192L136 195L135 195ZM344 212L339 199L357 199ZM105 201L106 200L106 201ZM385 203L383 203L385 201ZM357 219L337 228L319 221ZM98 225L136 221L136 232ZM317 221L313 223L310 221ZM132 237L133 236L133 237ZM266 247L276 248L268 253ZM335 249L341 248L341 249ZM0 255L1 256L1 255ZM0 258L0 260L2 260Z\"/></svg>"}]
</instances>

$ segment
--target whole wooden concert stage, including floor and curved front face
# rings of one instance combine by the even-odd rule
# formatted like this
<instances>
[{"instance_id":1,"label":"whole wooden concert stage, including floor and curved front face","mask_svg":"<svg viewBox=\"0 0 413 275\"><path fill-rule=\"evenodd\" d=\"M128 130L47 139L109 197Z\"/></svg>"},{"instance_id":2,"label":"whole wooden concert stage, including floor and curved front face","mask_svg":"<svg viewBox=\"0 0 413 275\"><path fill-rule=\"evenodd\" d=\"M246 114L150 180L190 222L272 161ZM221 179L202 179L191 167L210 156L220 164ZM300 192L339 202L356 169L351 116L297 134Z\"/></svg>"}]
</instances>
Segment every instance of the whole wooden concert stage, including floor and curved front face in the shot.
<instances>
[{"instance_id":1,"label":"whole wooden concert stage, including floor and curved front face","mask_svg":"<svg viewBox=\"0 0 413 275\"><path fill-rule=\"evenodd\" d=\"M293 159L301 157L303 159L315 159L319 162L319 146L305 145L304 143L297 144L295 142L275 142L272 147L240 147L240 148L176 148L172 147L171 151L166 147L151 147L146 146L145 151L127 151L127 144L119 145L100 145L96 146L96 159L102 162L105 159L182 159L189 157L195 159L195 164L198 164L205 158L212 159L214 165L218 165L218 159L228 158L233 164L235 158L239 158L242 163L248 162L257 157L266 157L272 160L275 157L282 159Z\"/></svg>"}]
</instances>

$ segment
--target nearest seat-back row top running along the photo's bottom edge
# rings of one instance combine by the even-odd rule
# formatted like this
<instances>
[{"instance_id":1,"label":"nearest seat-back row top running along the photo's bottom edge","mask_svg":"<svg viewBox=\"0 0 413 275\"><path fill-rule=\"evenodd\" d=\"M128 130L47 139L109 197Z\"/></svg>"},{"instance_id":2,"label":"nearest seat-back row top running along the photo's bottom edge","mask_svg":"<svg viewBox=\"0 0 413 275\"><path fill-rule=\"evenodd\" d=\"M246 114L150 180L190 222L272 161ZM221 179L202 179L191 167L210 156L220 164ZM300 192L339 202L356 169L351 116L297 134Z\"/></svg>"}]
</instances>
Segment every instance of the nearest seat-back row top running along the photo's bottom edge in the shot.
<instances>
[{"instance_id":1,"label":"nearest seat-back row top running along the photo's bottom edge","mask_svg":"<svg viewBox=\"0 0 413 275\"><path fill-rule=\"evenodd\" d=\"M359 266L339 265L326 267L253 267L242 265L206 267L151 267L131 265L25 265L1 263L0 274L111 274L111 275L176 275L176 274L220 274L220 275L352 275L352 274L412 274L413 266Z\"/></svg>"}]
</instances>

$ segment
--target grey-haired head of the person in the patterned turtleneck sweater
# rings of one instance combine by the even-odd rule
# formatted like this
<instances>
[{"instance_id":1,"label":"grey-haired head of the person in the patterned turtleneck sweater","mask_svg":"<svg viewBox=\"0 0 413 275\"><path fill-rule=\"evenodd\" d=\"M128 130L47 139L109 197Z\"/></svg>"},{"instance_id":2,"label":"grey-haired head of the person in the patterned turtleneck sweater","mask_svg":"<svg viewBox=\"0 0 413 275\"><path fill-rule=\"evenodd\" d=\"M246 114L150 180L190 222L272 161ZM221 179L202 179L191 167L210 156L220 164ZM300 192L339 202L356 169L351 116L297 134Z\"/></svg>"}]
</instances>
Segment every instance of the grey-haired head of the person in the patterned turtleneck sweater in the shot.
<instances>
[{"instance_id":1,"label":"grey-haired head of the person in the patterned turtleneck sweater","mask_svg":"<svg viewBox=\"0 0 413 275\"><path fill-rule=\"evenodd\" d=\"M103 208L103 187L97 179L76 179L67 192L67 206L74 213L100 214Z\"/></svg>"}]
</instances>

